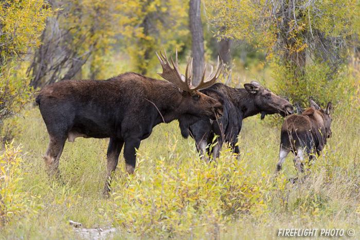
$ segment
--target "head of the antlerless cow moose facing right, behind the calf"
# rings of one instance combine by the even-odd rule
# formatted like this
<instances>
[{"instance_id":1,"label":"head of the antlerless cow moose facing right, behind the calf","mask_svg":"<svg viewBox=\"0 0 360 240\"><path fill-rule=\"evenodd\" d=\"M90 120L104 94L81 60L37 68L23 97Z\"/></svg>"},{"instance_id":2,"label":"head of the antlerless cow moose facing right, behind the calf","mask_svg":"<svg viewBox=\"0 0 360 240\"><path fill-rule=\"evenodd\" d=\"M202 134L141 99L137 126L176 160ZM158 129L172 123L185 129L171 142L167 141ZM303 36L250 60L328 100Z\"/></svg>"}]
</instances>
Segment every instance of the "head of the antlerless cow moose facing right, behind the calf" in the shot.
<instances>
[{"instance_id":1,"label":"head of the antlerless cow moose facing right, behind the calf","mask_svg":"<svg viewBox=\"0 0 360 240\"><path fill-rule=\"evenodd\" d=\"M260 109L261 119L266 114L280 114L285 117L294 113L293 105L283 98L276 96L272 91L261 86L256 81L245 83L244 88L255 97L255 105Z\"/></svg>"}]
</instances>

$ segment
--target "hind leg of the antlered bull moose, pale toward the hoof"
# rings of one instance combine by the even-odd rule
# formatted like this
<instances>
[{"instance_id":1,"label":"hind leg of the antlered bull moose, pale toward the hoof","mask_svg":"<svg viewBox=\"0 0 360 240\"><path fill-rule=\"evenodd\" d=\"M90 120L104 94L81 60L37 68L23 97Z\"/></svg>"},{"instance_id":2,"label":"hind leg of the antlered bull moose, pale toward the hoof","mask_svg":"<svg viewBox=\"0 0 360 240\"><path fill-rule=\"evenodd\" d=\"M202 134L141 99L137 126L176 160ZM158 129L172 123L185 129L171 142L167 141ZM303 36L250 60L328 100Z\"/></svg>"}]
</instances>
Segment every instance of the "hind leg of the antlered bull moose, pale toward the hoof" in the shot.
<instances>
[{"instance_id":1,"label":"hind leg of the antlered bull moose, pale toward the hoof","mask_svg":"<svg viewBox=\"0 0 360 240\"><path fill-rule=\"evenodd\" d=\"M61 138L49 135L49 145L44 155L47 173L50 176L55 175L58 179L61 178L59 172L59 161L61 153L64 149L65 141L65 137Z\"/></svg>"}]
</instances>

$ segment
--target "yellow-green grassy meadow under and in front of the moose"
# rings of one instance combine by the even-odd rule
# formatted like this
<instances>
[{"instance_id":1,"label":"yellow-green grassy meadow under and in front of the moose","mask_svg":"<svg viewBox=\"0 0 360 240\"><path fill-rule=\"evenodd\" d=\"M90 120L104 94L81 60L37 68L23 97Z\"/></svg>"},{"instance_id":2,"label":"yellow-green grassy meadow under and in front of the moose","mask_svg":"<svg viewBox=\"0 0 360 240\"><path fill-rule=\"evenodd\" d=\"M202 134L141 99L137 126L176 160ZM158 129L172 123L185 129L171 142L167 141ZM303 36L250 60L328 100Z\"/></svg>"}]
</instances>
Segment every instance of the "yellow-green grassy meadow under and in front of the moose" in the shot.
<instances>
[{"instance_id":1,"label":"yellow-green grassy meadow under and in front of the moose","mask_svg":"<svg viewBox=\"0 0 360 240\"><path fill-rule=\"evenodd\" d=\"M0 239L79 237L68 220L85 228L115 226L119 231L110 237L114 239L274 239L279 228L353 228L356 235L351 239L358 239L360 110L356 104L349 109L335 108L333 137L301 184L285 181L296 175L292 154L281 176L274 178L280 132L266 118L261 121L255 116L243 122L239 160L223 147L218 162L209 165L197 156L194 141L181 137L174 121L156 126L141 142L134 176L125 173L121 154L112 184L115 194L110 198L101 195L109 140L77 138L75 143L67 142L60 160L62 186L45 173L42 157L48 134L39 109L32 108L20 122L22 131L15 144L22 143L26 153L22 155L25 174L19 183L21 190L34 196L41 209L0 228ZM202 179L205 176L211 180ZM240 186L244 194L232 192L227 187L232 184ZM184 195L171 192L174 189L181 189ZM245 202L249 207L229 213L216 194L229 194L229 204ZM159 226L166 226L165 230Z\"/></svg>"}]
</instances>

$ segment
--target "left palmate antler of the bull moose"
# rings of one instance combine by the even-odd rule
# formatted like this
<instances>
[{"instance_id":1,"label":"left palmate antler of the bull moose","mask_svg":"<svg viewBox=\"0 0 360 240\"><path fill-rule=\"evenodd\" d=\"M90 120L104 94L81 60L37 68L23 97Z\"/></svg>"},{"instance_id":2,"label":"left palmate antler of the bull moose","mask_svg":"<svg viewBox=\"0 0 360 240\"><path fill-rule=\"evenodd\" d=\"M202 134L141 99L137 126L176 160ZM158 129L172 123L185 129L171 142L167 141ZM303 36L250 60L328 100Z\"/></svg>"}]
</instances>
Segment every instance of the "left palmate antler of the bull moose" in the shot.
<instances>
[{"instance_id":1,"label":"left palmate antler of the bull moose","mask_svg":"<svg viewBox=\"0 0 360 240\"><path fill-rule=\"evenodd\" d=\"M163 59L161 59L156 52L156 56L160 61L161 67L163 67L163 73L157 72L158 75L163 77L165 80L168 80L169 82L175 84L178 88L180 88L184 91L193 91L192 89L190 89L187 79L185 79L185 81L184 81L181 73L179 72L178 64L177 64L177 49L176 49L176 56L175 56L176 64L174 63L174 60L172 59L172 52L170 52L170 59L171 59L171 63L172 63L173 67L171 67L171 64L168 60L168 56L166 54L165 49L164 49L164 53L165 53L165 56L160 51L161 57L163 57Z\"/></svg>"}]
</instances>

